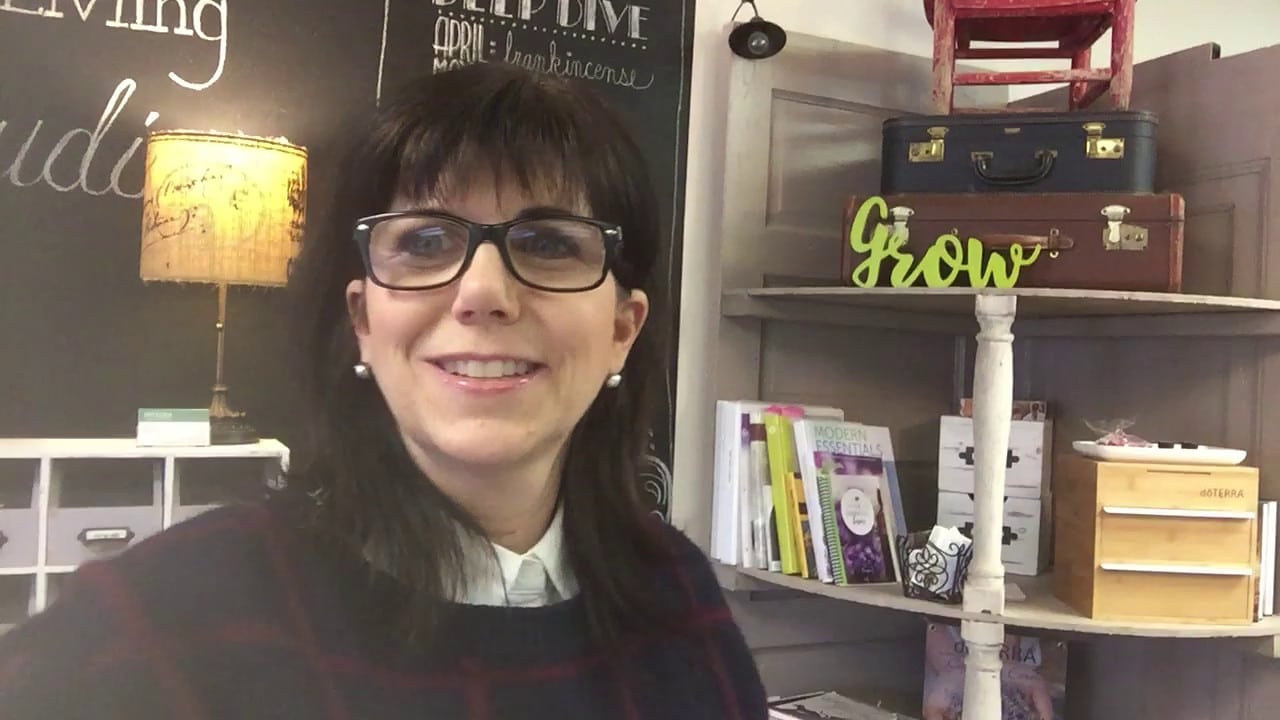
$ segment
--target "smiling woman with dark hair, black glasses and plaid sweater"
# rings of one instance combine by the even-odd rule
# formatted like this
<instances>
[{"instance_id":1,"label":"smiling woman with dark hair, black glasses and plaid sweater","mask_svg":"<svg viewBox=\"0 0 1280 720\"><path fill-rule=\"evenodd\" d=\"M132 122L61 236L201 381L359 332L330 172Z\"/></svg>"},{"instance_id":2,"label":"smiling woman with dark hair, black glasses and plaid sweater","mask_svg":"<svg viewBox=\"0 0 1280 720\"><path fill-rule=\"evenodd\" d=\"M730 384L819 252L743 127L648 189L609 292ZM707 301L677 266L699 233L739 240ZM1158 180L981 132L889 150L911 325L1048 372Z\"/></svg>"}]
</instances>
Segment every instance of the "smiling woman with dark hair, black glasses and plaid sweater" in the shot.
<instances>
[{"instance_id":1,"label":"smiling woman with dark hair, black glasses and plaid sweater","mask_svg":"<svg viewBox=\"0 0 1280 720\"><path fill-rule=\"evenodd\" d=\"M637 491L667 288L622 123L477 64L357 137L291 281L288 491L82 566L0 641L0 717L765 717Z\"/></svg>"}]
</instances>

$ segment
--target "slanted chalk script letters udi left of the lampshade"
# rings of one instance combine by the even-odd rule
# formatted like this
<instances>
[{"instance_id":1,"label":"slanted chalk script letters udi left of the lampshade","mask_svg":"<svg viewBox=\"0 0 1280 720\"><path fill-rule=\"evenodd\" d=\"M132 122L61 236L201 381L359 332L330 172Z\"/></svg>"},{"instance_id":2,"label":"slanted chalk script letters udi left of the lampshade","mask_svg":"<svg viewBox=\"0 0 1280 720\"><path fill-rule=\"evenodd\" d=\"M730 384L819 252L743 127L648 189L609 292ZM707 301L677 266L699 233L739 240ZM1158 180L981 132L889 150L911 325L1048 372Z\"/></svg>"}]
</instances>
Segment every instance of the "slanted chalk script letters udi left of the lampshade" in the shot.
<instances>
[{"instance_id":1,"label":"slanted chalk script letters udi left of the lampshade","mask_svg":"<svg viewBox=\"0 0 1280 720\"><path fill-rule=\"evenodd\" d=\"M128 104L129 97L133 96L137 87L137 82L132 78L120 81L120 83L115 86L115 91L111 94L111 97L106 101L106 108L102 110L102 114L93 129L88 131L84 128L76 128L64 133L45 156L42 167L38 165L37 159L31 156L32 150L36 147L37 138L41 137L40 131L45 126L45 120L37 119L36 124L27 135L27 140L18 149L18 154L4 169L3 176L17 187L29 187L44 182L59 192L79 190L82 192L87 192L88 195L106 195L110 192L119 195L120 197L141 197L142 188L138 188L137 191L125 191L120 187L120 176L142 147L143 140L141 136L136 137L120 158L116 159L115 165L111 168L111 173L108 176L109 182L106 182L106 184L93 186L93 183L90 182L90 176L95 169L99 146L106 133L111 131L111 126L120 115L120 111L124 110L124 106ZM151 127L159 117L160 115L155 111L150 113L145 122L146 127ZM0 119L0 137L3 137L6 131L9 131L9 120ZM56 177L54 177L56 173L55 165L72 147L73 141L78 138L83 138L84 145L82 147L77 147L81 152L79 163L76 165L77 172L74 177L60 182ZM28 160L31 164L28 164ZM40 167L41 169L36 172L36 167Z\"/></svg>"}]
</instances>

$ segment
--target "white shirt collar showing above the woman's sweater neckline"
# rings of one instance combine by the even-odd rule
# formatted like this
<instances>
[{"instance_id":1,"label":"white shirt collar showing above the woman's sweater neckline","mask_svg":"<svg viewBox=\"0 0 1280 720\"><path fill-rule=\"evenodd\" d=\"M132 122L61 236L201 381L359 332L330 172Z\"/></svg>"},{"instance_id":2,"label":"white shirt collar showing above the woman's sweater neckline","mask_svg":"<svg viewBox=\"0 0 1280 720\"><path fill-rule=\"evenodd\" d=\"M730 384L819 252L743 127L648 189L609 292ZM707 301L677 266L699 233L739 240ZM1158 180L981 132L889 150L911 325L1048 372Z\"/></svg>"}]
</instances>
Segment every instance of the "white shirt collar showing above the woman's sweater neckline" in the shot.
<instances>
[{"instance_id":1,"label":"white shirt collar showing above the woman's sweater neckline","mask_svg":"<svg viewBox=\"0 0 1280 720\"><path fill-rule=\"evenodd\" d=\"M471 555L476 560L471 565L470 587L457 601L534 607L577 594L577 578L564 551L563 514L563 506L556 509L547 532L529 552L516 553L488 543L498 556L495 564L489 548L474 548Z\"/></svg>"}]
</instances>

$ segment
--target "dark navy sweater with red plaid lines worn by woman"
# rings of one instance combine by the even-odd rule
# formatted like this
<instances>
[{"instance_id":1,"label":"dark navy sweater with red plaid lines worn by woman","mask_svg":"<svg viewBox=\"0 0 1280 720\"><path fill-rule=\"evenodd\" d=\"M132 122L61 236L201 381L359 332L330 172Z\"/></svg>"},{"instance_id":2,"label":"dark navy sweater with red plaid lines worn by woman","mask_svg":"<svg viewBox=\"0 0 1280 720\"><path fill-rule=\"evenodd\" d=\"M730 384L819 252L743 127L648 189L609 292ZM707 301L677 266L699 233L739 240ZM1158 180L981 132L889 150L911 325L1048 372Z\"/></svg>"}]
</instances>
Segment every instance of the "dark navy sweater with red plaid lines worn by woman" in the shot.
<instances>
[{"instance_id":1,"label":"dark navy sweater with red plaid lines worn by woman","mask_svg":"<svg viewBox=\"0 0 1280 720\"><path fill-rule=\"evenodd\" d=\"M580 597L457 606L429 653L372 632L355 564L271 503L224 507L82 565L0 638L4 720L763 720L765 696L705 556L655 592L687 618L625 651L593 646Z\"/></svg>"}]
</instances>

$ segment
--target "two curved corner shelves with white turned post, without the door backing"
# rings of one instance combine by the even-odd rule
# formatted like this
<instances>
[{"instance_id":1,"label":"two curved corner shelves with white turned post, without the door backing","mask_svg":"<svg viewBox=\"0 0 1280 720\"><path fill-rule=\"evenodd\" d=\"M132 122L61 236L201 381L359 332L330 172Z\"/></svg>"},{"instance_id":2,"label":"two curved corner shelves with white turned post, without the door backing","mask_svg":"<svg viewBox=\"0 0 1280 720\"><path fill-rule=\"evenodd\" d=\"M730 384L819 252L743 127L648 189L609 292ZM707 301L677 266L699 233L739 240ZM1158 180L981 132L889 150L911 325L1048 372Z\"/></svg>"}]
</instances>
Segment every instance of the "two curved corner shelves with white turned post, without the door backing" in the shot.
<instances>
[{"instance_id":1,"label":"two curved corner shelves with white turned post, without the door backing","mask_svg":"<svg viewBox=\"0 0 1280 720\"><path fill-rule=\"evenodd\" d=\"M1021 310L1021 315L1019 314ZM1167 638L1267 638L1275 646L1280 618L1248 625L1098 621L1057 601L1048 577L1018 578L1027 596L1010 602L1000 532L1014 387L1014 324L1030 337L1082 336L1280 336L1280 301L1202 295L1102 292L1052 288L852 288L769 287L723 293L727 318L800 324L895 328L964 336L977 322L974 361L975 523L974 556L963 606L904 597L895 587L835 587L813 579L750 569L722 569L731 587L783 587L847 602L960 620L969 647L965 720L1001 715L1000 650L1006 625L1070 633ZM727 571L726 571L727 570ZM746 584L730 575L739 574ZM753 584L754 583L754 584ZM763 585L762 585L763 583Z\"/></svg>"}]
</instances>

